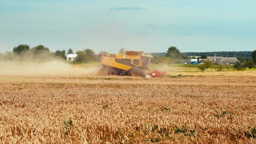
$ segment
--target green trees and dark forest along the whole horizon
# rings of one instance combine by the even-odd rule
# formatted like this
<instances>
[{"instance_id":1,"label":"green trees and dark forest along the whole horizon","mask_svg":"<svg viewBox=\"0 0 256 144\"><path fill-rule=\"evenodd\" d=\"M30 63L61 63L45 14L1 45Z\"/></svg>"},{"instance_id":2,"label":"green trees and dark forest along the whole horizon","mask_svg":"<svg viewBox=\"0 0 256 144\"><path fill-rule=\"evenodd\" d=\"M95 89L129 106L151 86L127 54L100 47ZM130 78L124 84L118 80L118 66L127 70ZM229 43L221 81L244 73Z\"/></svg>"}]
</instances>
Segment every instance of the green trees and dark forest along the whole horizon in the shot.
<instances>
[{"instance_id":1,"label":"green trees and dark forest along the whole horizon","mask_svg":"<svg viewBox=\"0 0 256 144\"><path fill-rule=\"evenodd\" d=\"M72 49L66 50L56 50L55 52L50 52L50 50L43 45L38 45L33 48L30 48L29 45L20 44L19 46L13 47L12 52L6 52L5 54L0 53L1 59L4 60L15 60L16 56L19 56L20 59L49 59L49 58L60 58L66 59L66 55L73 54ZM106 51L101 51L99 53L108 53ZM125 53L125 49L119 49L119 53ZM92 49L84 49L76 52L77 57L76 62L92 62L97 61L98 56ZM239 60L233 66L236 69L243 70L246 68L252 69L256 65L256 50L253 52L250 51L240 51L240 52L216 52L216 56L237 56ZM179 49L175 46L170 46L167 52L162 53L151 53L151 56L154 58L151 60L152 63L180 63L181 59L188 59L188 56L201 56L202 59L207 59L207 56L214 56L215 52L180 52ZM207 69L207 66L206 66Z\"/></svg>"}]
</instances>

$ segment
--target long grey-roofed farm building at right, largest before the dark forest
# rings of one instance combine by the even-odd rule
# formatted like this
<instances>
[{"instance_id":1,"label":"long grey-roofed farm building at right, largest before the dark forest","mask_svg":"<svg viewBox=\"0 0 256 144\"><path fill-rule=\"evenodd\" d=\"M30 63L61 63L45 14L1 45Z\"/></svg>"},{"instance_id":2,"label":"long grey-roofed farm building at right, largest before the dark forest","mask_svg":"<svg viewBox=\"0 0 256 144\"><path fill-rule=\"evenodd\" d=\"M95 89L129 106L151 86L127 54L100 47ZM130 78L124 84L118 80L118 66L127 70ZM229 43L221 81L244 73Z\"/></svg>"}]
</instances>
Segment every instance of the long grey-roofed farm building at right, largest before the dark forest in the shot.
<instances>
[{"instance_id":1,"label":"long grey-roofed farm building at right, largest before the dark forest","mask_svg":"<svg viewBox=\"0 0 256 144\"><path fill-rule=\"evenodd\" d=\"M207 58L220 65L233 65L238 62L236 57L208 56Z\"/></svg>"}]
</instances>

